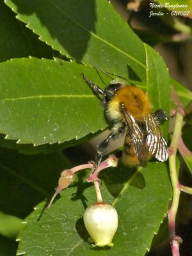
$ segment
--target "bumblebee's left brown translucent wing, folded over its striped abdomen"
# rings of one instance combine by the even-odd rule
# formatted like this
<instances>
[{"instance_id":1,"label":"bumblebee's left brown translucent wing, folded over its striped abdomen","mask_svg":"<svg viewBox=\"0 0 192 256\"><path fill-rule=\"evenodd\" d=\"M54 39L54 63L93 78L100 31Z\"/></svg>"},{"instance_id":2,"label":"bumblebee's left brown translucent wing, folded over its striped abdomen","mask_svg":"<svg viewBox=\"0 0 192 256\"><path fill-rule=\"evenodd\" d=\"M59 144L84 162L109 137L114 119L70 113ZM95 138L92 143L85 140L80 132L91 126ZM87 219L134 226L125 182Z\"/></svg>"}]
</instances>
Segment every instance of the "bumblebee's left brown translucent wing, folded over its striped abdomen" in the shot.
<instances>
[{"instance_id":1,"label":"bumblebee's left brown translucent wing, folded over its striped abdomen","mask_svg":"<svg viewBox=\"0 0 192 256\"><path fill-rule=\"evenodd\" d=\"M125 109L122 109L125 122L128 126L127 136L125 141L129 141L130 148L134 150L134 154L138 157L138 160L143 165L148 158L148 146L145 142L145 136L141 131L139 125L132 115L130 115Z\"/></svg>"}]
</instances>

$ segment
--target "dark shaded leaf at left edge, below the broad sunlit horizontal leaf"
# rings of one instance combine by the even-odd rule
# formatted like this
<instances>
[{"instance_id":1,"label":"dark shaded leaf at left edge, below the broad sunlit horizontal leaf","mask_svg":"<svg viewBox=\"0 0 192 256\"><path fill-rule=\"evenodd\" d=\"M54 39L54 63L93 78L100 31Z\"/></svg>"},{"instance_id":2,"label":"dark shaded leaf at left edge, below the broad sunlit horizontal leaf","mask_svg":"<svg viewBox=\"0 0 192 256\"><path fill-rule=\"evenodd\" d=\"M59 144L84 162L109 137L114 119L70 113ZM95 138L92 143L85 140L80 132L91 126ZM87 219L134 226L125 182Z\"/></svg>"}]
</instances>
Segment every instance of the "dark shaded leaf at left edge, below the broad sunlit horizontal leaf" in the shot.
<instances>
[{"instance_id":1,"label":"dark shaded leaf at left edge, below the broad sunlit horizontal leaf","mask_svg":"<svg viewBox=\"0 0 192 256\"><path fill-rule=\"evenodd\" d=\"M61 171L69 166L61 152L26 156L0 147L0 154L0 209L19 218L26 218L49 196Z\"/></svg>"}]
</instances>

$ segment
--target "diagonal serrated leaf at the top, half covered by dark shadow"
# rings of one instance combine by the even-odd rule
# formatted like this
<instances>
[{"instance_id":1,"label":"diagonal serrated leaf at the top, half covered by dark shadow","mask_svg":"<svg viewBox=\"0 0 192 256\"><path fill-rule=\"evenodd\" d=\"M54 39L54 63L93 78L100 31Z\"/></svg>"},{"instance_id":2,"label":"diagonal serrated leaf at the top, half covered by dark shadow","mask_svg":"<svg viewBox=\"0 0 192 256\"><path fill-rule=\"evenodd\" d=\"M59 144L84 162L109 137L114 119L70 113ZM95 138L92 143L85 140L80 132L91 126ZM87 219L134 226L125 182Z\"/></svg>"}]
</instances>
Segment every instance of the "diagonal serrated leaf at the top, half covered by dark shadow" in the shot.
<instances>
[{"instance_id":1,"label":"diagonal serrated leaf at the top, half covered by dark shadow","mask_svg":"<svg viewBox=\"0 0 192 256\"><path fill-rule=\"evenodd\" d=\"M67 57L145 81L143 42L106 0L6 0L17 19ZM127 74L128 72L128 74Z\"/></svg>"}]
</instances>

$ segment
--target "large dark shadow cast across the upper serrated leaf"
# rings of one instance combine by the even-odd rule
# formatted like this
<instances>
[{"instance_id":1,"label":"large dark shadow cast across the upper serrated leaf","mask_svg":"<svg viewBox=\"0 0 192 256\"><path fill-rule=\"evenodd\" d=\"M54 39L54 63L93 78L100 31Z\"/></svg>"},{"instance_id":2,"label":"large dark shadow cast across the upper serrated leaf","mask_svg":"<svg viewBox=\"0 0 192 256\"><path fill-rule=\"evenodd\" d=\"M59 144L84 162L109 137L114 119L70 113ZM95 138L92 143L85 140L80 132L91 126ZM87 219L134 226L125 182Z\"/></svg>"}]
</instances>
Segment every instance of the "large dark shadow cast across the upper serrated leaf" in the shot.
<instances>
[{"instance_id":1,"label":"large dark shadow cast across the upper serrated leaf","mask_svg":"<svg viewBox=\"0 0 192 256\"><path fill-rule=\"evenodd\" d=\"M41 24L36 26L36 33L47 34L49 31L54 47L60 51L63 47L70 56L77 61L81 61L92 32L95 32L95 22L97 21L95 13L95 1L78 0L75 1L49 1L34 0L29 4L28 0L13 0L17 6L17 12L20 15L33 16L38 18ZM44 12L42 10L46 6ZM43 9L42 9L43 8ZM86 14L84 15L84 10ZM46 13L46 14L45 14ZM41 27L42 26L42 27ZM42 38L45 40L45 38ZM48 40L50 41L50 40Z\"/></svg>"}]
</instances>

